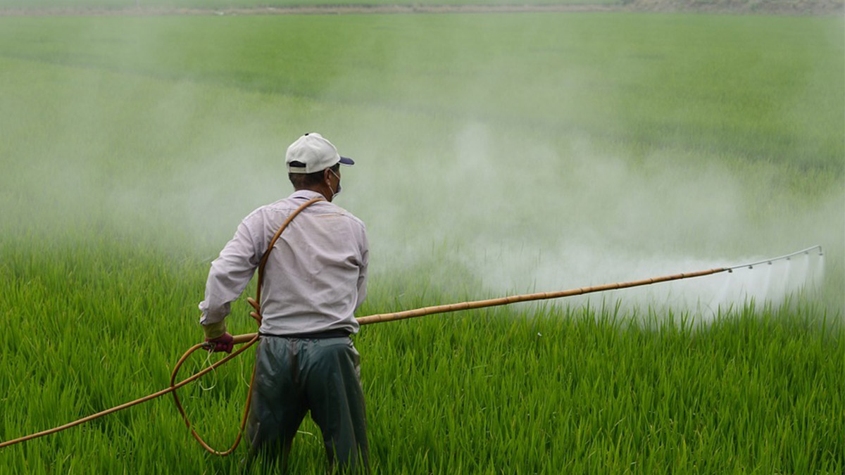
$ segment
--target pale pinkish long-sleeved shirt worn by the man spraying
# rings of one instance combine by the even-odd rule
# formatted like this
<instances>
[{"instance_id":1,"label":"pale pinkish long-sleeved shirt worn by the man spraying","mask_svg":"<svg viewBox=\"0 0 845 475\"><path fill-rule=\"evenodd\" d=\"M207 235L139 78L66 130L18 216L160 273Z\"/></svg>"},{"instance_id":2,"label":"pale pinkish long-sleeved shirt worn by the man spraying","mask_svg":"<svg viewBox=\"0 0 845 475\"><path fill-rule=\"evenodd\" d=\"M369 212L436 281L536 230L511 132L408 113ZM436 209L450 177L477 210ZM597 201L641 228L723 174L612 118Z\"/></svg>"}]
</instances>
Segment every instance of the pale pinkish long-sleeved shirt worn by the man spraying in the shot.
<instances>
[{"instance_id":1,"label":"pale pinkish long-sleeved shirt worn by the man spraying","mask_svg":"<svg viewBox=\"0 0 845 475\"><path fill-rule=\"evenodd\" d=\"M222 321L247 287L281 223L308 199L308 190L264 205L241 221L234 238L211 263L199 323ZM369 248L364 224L328 201L308 206L276 241L264 267L261 333L291 335L324 330L357 333L353 313L367 294Z\"/></svg>"}]
</instances>

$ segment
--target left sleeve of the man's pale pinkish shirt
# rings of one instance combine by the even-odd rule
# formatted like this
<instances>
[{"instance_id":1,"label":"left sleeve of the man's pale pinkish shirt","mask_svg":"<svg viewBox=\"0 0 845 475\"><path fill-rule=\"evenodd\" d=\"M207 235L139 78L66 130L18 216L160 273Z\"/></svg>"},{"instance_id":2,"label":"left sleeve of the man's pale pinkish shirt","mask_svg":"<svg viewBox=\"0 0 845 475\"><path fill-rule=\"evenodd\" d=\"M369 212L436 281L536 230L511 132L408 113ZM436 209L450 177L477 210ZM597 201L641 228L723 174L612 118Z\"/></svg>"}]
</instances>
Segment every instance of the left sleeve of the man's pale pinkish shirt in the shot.
<instances>
[{"instance_id":1,"label":"left sleeve of the man's pale pinkish shirt","mask_svg":"<svg viewBox=\"0 0 845 475\"><path fill-rule=\"evenodd\" d=\"M250 232L250 218L241 222L235 236L226 243L220 256L211 262L205 281L205 298L199 303L201 325L221 324L229 314L231 303L237 299L252 279L261 253Z\"/></svg>"}]
</instances>

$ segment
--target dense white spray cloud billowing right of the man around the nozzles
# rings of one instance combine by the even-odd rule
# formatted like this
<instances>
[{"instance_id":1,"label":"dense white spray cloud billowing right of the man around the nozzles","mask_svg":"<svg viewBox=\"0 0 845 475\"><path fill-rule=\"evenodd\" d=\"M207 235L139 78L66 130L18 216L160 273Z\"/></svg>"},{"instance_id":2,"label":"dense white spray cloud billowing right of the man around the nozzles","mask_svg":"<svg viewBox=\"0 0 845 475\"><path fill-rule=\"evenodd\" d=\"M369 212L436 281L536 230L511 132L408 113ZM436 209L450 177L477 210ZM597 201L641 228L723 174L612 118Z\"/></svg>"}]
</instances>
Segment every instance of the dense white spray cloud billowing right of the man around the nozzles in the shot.
<instances>
[{"instance_id":1,"label":"dense white spray cloud billowing right of the man around the nozzles","mask_svg":"<svg viewBox=\"0 0 845 475\"><path fill-rule=\"evenodd\" d=\"M512 150L509 140L515 140ZM373 192L384 187L390 187L388 197L405 197L389 198L367 216L381 271L426 268L425 261L436 260L469 270L486 288L477 295L484 298L709 270L776 257L808 247L804 243L841 243L835 227L826 226L831 215L824 216L824 207L788 213L793 205L784 200L771 209L773 216L755 222L755 196L744 190L745 178L718 166L659 159L659 165L632 165L591 150L581 138L557 154L502 131L490 134L478 123L455 134L451 145L449 159L431 161L433 170L419 163L388 172L364 165L346 185L351 208L366 210L368 201L384 199ZM531 159L511 161L520 154ZM709 318L750 299L777 306L789 294L818 290L823 259L801 254L567 303L619 299L624 308L672 307ZM444 277L432 274L420 276L419 285Z\"/></svg>"}]
</instances>

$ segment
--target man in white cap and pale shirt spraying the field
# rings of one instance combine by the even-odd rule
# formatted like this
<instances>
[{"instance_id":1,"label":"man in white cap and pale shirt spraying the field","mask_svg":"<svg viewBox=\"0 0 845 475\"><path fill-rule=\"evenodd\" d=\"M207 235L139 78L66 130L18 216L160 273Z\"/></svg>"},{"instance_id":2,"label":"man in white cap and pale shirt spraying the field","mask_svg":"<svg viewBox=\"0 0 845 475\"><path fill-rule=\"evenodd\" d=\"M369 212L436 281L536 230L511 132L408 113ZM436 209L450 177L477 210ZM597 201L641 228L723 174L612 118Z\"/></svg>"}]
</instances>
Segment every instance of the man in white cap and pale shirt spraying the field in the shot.
<instances>
[{"instance_id":1,"label":"man in white cap and pale shirt spraying the field","mask_svg":"<svg viewBox=\"0 0 845 475\"><path fill-rule=\"evenodd\" d=\"M366 295L368 243L363 222L331 203L341 193L338 155L320 134L305 134L287 149L294 192L254 210L211 263L205 299L199 303L206 341L232 351L224 319L247 286L282 222L309 205L281 233L264 268L261 339L247 437L255 456L281 458L305 413L323 433L332 467L366 471L368 445L360 362L350 335L353 312Z\"/></svg>"}]
</instances>

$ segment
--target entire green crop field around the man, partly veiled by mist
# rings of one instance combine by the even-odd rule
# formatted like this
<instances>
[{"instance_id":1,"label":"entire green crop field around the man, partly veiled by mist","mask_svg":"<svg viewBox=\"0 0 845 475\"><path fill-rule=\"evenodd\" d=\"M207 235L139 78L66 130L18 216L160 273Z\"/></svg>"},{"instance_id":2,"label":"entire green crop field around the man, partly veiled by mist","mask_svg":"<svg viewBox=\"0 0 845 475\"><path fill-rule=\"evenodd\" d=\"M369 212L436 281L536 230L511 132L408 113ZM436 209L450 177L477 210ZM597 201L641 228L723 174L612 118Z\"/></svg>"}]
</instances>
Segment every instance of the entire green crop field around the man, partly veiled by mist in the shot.
<instances>
[{"instance_id":1,"label":"entire green crop field around the man, partly veiled by mist","mask_svg":"<svg viewBox=\"0 0 845 475\"><path fill-rule=\"evenodd\" d=\"M166 387L210 261L319 131L357 161L359 315L825 250L745 270L755 300L711 276L363 327L374 473L842 473L843 45L841 17L0 17L0 441ZM180 391L217 448L253 360ZM237 473L168 399L0 474ZM308 418L290 468L327 471Z\"/></svg>"}]
</instances>

